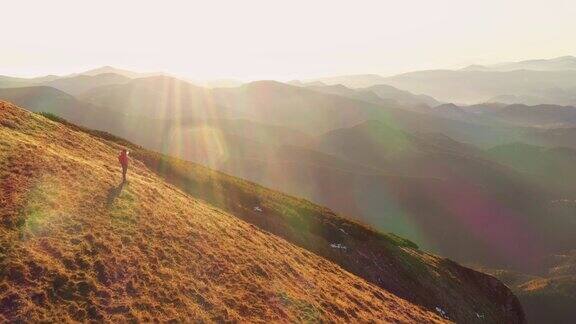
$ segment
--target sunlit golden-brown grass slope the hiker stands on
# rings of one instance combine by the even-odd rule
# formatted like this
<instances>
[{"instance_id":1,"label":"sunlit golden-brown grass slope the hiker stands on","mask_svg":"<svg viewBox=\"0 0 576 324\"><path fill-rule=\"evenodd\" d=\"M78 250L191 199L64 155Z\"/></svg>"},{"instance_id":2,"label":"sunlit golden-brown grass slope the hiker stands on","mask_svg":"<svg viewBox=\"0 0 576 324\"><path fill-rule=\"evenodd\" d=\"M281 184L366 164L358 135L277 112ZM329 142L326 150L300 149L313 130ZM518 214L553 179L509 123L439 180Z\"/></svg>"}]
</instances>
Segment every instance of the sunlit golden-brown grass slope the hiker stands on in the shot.
<instances>
[{"instance_id":1,"label":"sunlit golden-brown grass slope the hiker stands on","mask_svg":"<svg viewBox=\"0 0 576 324\"><path fill-rule=\"evenodd\" d=\"M0 322L445 322L0 102Z\"/></svg>"}]
</instances>

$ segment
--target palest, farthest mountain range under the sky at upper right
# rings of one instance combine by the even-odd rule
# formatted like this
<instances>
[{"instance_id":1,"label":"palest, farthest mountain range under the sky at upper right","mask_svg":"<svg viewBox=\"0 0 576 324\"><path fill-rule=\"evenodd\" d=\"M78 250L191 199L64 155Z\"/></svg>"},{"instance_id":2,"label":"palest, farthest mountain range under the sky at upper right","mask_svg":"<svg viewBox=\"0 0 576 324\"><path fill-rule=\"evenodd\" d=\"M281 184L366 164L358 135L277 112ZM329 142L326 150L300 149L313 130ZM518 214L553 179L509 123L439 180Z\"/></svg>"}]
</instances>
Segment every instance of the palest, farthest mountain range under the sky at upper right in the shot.
<instances>
[{"instance_id":1,"label":"palest, farthest mountain range under the sky at upper right","mask_svg":"<svg viewBox=\"0 0 576 324\"><path fill-rule=\"evenodd\" d=\"M327 77L299 83L342 84L351 88L384 84L442 102L468 105L502 102L576 106L576 57L471 65L458 70L415 71L389 77L374 74Z\"/></svg>"}]
</instances>

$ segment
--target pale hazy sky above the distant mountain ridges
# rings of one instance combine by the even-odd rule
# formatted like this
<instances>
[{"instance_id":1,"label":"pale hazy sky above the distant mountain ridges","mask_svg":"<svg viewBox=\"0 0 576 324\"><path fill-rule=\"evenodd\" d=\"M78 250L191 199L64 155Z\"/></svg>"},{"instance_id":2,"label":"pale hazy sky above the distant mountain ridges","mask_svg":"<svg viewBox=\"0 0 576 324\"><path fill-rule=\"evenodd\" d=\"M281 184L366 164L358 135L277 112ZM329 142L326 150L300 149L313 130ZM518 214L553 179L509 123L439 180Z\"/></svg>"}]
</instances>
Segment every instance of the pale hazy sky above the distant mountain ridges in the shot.
<instances>
[{"instance_id":1,"label":"pale hazy sky above the distant mountain ridges","mask_svg":"<svg viewBox=\"0 0 576 324\"><path fill-rule=\"evenodd\" d=\"M392 74L576 55L574 0L2 1L0 74Z\"/></svg>"}]
</instances>

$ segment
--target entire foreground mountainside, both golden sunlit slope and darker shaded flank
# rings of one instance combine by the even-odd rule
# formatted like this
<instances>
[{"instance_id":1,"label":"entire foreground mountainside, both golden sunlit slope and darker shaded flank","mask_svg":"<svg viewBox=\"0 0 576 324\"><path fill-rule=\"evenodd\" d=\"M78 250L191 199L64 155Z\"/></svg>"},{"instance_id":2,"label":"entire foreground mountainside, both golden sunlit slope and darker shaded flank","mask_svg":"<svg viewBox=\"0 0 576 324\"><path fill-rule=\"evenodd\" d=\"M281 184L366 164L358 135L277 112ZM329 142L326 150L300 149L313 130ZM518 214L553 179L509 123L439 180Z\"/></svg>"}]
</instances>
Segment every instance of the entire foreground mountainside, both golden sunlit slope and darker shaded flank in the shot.
<instances>
[{"instance_id":1,"label":"entire foreground mountainside, both golden sunlit slope and darker shaded flank","mask_svg":"<svg viewBox=\"0 0 576 324\"><path fill-rule=\"evenodd\" d=\"M10 306L4 316L17 318L22 307L30 307L33 301L28 298L33 295L57 305L44 310L46 316L58 319L102 315L116 320L187 316L212 320L440 320L388 295L391 290L386 287L394 287L395 295L419 301L428 309L445 309L448 317L458 321L523 322L517 300L498 281L420 252L405 240L377 234L304 200L198 165L158 158L92 132L135 150L131 182L120 188L115 181L118 172L110 167L116 163L116 144L8 104L1 113L0 170L7 181L0 193L1 201L10 206L2 214L7 220L2 230L10 238L24 237L23 241L8 240L18 245L2 245L5 257L0 261L9 266L2 267L7 270L0 275L10 283L0 290L0 300ZM256 231L205 202L337 262L384 289ZM260 210L253 210L254 206L261 206ZM86 233L89 228L93 229L92 238ZM143 237L149 242L143 242ZM53 254L40 258L34 249ZM122 256L113 253L116 251L122 251ZM18 264L21 260L14 256L34 262ZM60 259L84 275L67 273ZM34 277L38 267L45 274L41 280ZM18 275L28 268L32 271ZM162 289L148 290L145 283ZM89 298L82 297L86 289ZM96 294L92 294L94 290ZM137 297L131 295L134 291ZM42 293L48 296L41 297ZM71 295L77 305L72 305ZM166 306L160 307L160 303ZM393 314L389 314L390 307Z\"/></svg>"}]
</instances>

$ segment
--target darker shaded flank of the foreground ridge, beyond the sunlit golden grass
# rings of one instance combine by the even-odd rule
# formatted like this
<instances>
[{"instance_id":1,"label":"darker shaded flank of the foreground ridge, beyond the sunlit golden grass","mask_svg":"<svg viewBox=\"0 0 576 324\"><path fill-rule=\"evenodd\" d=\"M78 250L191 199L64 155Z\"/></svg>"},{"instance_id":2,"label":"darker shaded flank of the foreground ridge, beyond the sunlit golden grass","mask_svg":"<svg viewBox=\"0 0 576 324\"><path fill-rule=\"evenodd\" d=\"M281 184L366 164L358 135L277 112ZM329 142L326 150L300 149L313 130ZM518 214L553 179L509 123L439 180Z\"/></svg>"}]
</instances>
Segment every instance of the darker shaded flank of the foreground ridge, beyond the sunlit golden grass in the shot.
<instances>
[{"instance_id":1,"label":"darker shaded flank of the foreground ridge, beyond the sunlit golden grass","mask_svg":"<svg viewBox=\"0 0 576 324\"><path fill-rule=\"evenodd\" d=\"M68 127L111 141L113 147L129 147L138 163L187 194L323 256L415 304L431 310L439 307L458 321L523 320L516 298L498 281L421 252L410 241L375 232L306 200L144 150L109 134ZM114 165L115 161L110 163Z\"/></svg>"}]
</instances>

